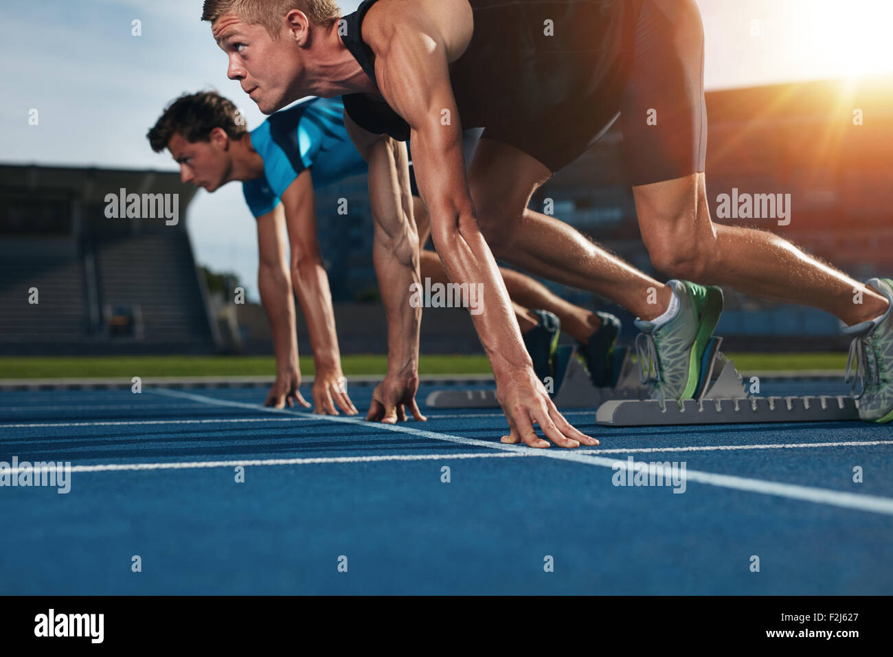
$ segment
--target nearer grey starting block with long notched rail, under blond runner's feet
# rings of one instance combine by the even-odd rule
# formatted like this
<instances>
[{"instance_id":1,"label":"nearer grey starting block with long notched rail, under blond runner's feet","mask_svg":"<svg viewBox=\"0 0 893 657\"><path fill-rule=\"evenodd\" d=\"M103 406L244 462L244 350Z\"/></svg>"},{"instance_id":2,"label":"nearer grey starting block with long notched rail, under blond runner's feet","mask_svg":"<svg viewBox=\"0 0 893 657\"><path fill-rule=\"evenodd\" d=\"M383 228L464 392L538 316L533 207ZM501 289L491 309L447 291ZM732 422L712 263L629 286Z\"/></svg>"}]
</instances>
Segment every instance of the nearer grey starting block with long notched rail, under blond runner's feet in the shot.
<instances>
[{"instance_id":1,"label":"nearer grey starting block with long notched rail, under blond runner's feet","mask_svg":"<svg viewBox=\"0 0 893 657\"><path fill-rule=\"evenodd\" d=\"M747 393L735 364L713 338L701 361L705 373L696 398L683 400L606 400L596 422L609 426L730 425L763 422L840 422L859 419L855 400L843 396L754 397Z\"/></svg>"}]
</instances>

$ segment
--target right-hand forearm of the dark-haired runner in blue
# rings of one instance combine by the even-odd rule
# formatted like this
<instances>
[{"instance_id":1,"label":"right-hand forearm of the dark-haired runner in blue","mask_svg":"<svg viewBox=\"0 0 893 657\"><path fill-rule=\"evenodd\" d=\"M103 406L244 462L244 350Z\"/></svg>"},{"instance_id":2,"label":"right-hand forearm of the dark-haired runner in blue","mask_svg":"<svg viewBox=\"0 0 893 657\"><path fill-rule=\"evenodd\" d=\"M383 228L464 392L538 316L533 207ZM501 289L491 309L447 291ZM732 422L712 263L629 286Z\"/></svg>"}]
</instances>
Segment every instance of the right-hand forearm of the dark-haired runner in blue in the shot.
<instances>
[{"instance_id":1,"label":"right-hand forearm of the dark-haired runner in blue","mask_svg":"<svg viewBox=\"0 0 893 657\"><path fill-rule=\"evenodd\" d=\"M297 301L307 323L307 331L310 333L310 345L317 369L321 366L339 367L341 355L338 350L329 276L321 260L301 260L292 269L291 277Z\"/></svg>"}]
</instances>

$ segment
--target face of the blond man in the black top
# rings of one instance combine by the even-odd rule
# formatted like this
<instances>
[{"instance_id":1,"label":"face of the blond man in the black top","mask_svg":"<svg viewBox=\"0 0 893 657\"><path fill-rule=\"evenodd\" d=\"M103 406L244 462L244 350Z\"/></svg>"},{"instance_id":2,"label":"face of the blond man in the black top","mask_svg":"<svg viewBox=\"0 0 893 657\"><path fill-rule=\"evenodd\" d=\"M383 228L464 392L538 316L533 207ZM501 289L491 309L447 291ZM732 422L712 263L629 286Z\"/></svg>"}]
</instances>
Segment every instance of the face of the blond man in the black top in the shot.
<instances>
[{"instance_id":1,"label":"face of the blond man in the black top","mask_svg":"<svg viewBox=\"0 0 893 657\"><path fill-rule=\"evenodd\" d=\"M272 114L305 95L300 93L305 77L300 45L305 43L307 29L306 22L301 25L302 18L306 21L303 13L289 13L277 38L262 25L246 23L238 16L221 16L213 22L214 39L229 60L227 77L238 80L263 114Z\"/></svg>"}]
</instances>

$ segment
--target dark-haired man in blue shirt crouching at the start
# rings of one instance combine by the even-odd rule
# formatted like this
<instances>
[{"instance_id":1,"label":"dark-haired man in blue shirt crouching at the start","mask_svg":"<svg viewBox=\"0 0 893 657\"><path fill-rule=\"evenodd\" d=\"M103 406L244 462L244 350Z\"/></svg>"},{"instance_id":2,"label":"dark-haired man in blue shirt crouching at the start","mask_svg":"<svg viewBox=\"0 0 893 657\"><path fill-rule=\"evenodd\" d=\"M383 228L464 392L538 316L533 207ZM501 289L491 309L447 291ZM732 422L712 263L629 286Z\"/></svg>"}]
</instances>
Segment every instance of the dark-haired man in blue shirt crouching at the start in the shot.
<instances>
[{"instance_id":1,"label":"dark-haired man in blue shirt crouching at the start","mask_svg":"<svg viewBox=\"0 0 893 657\"><path fill-rule=\"evenodd\" d=\"M227 182L243 181L246 203L257 222L258 285L276 353L277 377L267 396L268 406L282 408L294 401L309 406L298 392L301 375L294 289L313 345L316 412L337 414L337 405L350 415L356 413L341 383L344 378L338 337L316 237L313 193L314 189L367 171L363 156L347 137L343 109L339 98L311 98L273 114L248 132L230 100L204 91L177 98L147 135L155 152L164 148L171 151L185 182L213 192ZM470 136L466 146L469 152L476 139L477 135ZM413 201L423 245L429 233L427 215L421 199ZM517 299L513 300L513 309L540 378L553 374L550 363L559 326L580 341L584 350L588 348L594 358L607 362L612 334L616 338L613 316L574 306L524 274L508 269L500 269L500 273L513 299ZM431 282L447 282L433 251L421 251L421 276ZM597 366L593 370L597 379Z\"/></svg>"}]
</instances>

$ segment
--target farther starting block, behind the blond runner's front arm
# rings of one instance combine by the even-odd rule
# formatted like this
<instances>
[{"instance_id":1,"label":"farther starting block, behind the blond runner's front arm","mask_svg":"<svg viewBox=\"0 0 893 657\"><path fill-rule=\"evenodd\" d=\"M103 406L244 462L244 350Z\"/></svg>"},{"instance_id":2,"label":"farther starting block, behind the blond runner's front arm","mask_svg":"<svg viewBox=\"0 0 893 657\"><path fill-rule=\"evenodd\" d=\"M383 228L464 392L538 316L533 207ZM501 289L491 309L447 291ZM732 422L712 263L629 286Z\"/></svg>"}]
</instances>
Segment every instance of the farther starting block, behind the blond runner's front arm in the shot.
<instances>
[{"instance_id":1,"label":"farther starting block, behind the blond runner's front arm","mask_svg":"<svg viewBox=\"0 0 893 657\"><path fill-rule=\"evenodd\" d=\"M591 409L607 400L644 400L648 388L638 380L638 369L625 350L618 352L614 366L619 368L613 388L596 388L576 349L558 348L552 400L559 409ZM616 370L615 370L616 371ZM495 390L436 390L428 395L425 404L430 409L498 409Z\"/></svg>"}]
</instances>

